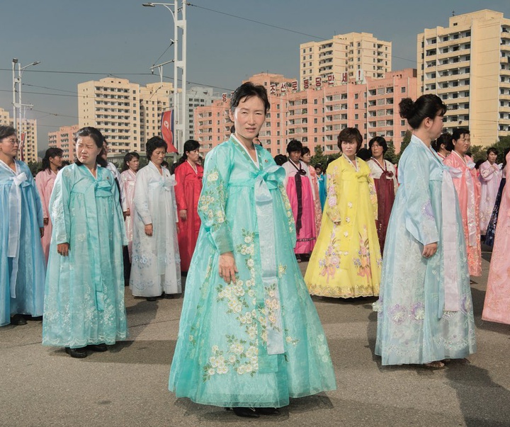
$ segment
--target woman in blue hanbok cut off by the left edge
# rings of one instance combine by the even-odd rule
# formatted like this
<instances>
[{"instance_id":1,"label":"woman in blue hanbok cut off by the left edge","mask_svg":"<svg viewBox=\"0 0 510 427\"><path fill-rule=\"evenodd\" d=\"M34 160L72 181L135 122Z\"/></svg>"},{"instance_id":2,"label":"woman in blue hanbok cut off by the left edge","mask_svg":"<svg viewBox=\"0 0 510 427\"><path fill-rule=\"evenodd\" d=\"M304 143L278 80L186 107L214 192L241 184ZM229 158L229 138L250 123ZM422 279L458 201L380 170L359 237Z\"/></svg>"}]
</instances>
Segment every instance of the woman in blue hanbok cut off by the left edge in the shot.
<instances>
[{"instance_id":1,"label":"woman in blue hanbok cut off by the left edge","mask_svg":"<svg viewBox=\"0 0 510 427\"><path fill-rule=\"evenodd\" d=\"M0 126L0 326L41 316L44 298L42 205L18 149L16 130Z\"/></svg>"}]
</instances>

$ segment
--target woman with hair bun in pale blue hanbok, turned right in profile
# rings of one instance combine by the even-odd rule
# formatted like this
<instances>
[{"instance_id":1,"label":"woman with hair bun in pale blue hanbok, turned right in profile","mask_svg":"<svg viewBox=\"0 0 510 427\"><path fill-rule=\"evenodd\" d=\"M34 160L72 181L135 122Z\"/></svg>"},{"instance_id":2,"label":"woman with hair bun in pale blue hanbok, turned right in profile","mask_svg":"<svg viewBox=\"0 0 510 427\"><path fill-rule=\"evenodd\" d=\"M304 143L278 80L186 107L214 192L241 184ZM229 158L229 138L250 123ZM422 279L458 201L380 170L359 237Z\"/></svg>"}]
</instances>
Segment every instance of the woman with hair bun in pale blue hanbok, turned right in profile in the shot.
<instances>
[{"instance_id":1,"label":"woman with hair bun in pale blue hanbok, turned right in profile","mask_svg":"<svg viewBox=\"0 0 510 427\"><path fill-rule=\"evenodd\" d=\"M431 140L446 106L436 95L400 103L414 129L399 161L399 188L382 261L375 354L382 365L443 368L476 351L462 218L453 181Z\"/></svg>"}]
</instances>

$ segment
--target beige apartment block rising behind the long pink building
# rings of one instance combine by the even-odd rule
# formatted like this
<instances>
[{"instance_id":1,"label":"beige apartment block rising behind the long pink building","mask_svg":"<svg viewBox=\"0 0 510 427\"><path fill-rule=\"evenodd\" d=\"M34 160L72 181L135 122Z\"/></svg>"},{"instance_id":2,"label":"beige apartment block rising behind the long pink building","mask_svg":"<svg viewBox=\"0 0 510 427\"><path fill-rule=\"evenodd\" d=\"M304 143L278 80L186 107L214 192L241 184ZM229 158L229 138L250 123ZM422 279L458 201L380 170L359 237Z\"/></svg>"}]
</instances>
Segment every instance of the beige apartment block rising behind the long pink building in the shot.
<instances>
[{"instance_id":1,"label":"beige apartment block rising behind the long pink building","mask_svg":"<svg viewBox=\"0 0 510 427\"><path fill-rule=\"evenodd\" d=\"M347 83L351 79L380 79L392 68L392 43L370 33L335 35L330 40L300 45L300 88L316 79ZM347 73L347 74L344 74Z\"/></svg>"}]
</instances>

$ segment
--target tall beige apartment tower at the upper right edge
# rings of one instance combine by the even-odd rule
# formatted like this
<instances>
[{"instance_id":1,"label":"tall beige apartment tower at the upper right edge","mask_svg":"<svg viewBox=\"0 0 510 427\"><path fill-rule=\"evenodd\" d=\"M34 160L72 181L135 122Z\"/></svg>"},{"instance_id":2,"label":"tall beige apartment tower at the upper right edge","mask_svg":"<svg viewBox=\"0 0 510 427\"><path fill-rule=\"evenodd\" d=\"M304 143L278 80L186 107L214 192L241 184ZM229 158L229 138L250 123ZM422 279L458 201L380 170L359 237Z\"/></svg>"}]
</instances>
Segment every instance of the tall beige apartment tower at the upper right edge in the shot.
<instances>
[{"instance_id":1,"label":"tall beige apartment tower at the upper right edge","mask_svg":"<svg viewBox=\"0 0 510 427\"><path fill-rule=\"evenodd\" d=\"M469 127L472 144L510 135L510 19L482 10L451 16L417 38L419 95L448 106L444 129Z\"/></svg>"}]
</instances>

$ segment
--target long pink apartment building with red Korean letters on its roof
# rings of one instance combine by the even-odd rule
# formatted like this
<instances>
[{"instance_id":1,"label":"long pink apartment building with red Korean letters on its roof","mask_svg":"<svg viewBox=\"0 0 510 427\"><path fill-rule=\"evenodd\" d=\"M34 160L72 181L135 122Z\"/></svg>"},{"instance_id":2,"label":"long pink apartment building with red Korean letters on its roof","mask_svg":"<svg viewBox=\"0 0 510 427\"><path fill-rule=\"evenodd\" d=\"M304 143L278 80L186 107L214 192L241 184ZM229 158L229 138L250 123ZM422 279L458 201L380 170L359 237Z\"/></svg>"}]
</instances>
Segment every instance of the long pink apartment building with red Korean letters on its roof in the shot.
<instances>
[{"instance_id":1,"label":"long pink apartment building with red Korean letters on its roof","mask_svg":"<svg viewBox=\"0 0 510 427\"><path fill-rule=\"evenodd\" d=\"M293 138L310 148L322 147L324 154L338 152L336 137L344 127L357 127L365 144L375 136L393 141L398 152L407 130L400 118L402 98L416 98L416 69L387 72L383 79L351 80L346 84L314 81L313 87L298 91L295 79L281 74L261 73L249 81L268 90L271 110L259 139L273 156L285 154ZM225 141L232 123L228 118L229 94L212 106L195 111L195 137L205 154Z\"/></svg>"}]
</instances>

